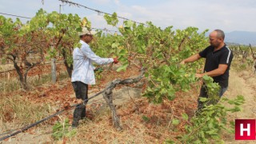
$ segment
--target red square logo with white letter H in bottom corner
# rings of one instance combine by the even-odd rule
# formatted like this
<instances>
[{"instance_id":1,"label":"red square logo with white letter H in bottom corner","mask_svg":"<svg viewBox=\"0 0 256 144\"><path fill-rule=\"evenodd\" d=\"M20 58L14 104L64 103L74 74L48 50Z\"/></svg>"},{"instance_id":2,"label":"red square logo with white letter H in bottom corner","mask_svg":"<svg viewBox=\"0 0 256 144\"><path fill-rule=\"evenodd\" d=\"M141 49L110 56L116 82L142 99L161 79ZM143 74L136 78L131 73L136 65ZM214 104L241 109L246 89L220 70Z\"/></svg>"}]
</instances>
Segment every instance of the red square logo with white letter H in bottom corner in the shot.
<instances>
[{"instance_id":1,"label":"red square logo with white letter H in bottom corner","mask_svg":"<svg viewBox=\"0 0 256 144\"><path fill-rule=\"evenodd\" d=\"M235 140L255 140L255 119L235 120Z\"/></svg>"}]
</instances>

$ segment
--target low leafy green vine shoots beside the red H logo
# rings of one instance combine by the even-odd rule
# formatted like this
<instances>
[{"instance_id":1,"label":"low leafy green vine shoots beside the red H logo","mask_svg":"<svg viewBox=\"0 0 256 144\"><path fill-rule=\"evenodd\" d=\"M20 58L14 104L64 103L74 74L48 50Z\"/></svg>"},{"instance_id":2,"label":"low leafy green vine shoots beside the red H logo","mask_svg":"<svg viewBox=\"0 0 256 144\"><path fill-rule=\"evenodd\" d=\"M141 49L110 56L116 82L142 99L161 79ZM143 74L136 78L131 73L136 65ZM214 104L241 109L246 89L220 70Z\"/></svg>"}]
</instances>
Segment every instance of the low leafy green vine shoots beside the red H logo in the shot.
<instances>
[{"instance_id":1,"label":"low leafy green vine shoots beside the red H logo","mask_svg":"<svg viewBox=\"0 0 256 144\"><path fill-rule=\"evenodd\" d=\"M212 140L214 142L222 142L222 130L234 133L234 127L232 129L227 127L229 124L226 119L227 113L240 111L239 106L245 102L243 96L238 95L234 100L221 99L222 102L228 102L233 107L228 108L222 102L218 102L215 105L212 104L212 102L218 99L219 86L210 77L204 76L203 79L206 82L209 98L201 99L205 106L202 112L190 119L189 124L185 126L186 134L182 135L182 142L210 143ZM187 118L185 120L187 121Z\"/></svg>"}]
</instances>

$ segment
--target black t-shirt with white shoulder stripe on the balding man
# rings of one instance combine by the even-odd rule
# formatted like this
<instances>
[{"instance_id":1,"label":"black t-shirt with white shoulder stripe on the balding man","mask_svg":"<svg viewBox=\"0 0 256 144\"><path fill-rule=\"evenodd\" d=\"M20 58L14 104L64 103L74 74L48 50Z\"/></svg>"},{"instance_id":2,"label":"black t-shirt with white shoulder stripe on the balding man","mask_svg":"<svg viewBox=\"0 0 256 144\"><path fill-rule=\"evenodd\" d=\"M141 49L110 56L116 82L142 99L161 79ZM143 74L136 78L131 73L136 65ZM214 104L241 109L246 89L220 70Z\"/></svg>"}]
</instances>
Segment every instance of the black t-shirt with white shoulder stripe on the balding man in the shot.
<instances>
[{"instance_id":1,"label":"black t-shirt with white shoulder stripe on the balding man","mask_svg":"<svg viewBox=\"0 0 256 144\"><path fill-rule=\"evenodd\" d=\"M227 87L229 82L229 71L230 64L233 59L232 51L225 45L220 50L214 51L214 46L208 46L205 50L202 50L199 55L202 58L206 58L206 64L204 68L204 72L209 72L211 70L218 69L219 64L228 65L224 74L213 77L214 82L218 82L218 84L222 87Z\"/></svg>"}]
</instances>

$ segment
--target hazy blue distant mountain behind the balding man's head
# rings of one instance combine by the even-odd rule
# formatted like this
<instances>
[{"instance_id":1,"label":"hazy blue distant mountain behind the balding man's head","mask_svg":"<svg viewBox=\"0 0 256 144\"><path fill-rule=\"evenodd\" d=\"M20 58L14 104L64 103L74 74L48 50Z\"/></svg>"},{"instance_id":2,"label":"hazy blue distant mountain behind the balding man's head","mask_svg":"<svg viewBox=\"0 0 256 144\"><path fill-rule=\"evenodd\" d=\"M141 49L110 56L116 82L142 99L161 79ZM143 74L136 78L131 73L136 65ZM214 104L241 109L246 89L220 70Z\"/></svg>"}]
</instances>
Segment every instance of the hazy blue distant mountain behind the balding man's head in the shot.
<instances>
[{"instance_id":1,"label":"hazy blue distant mountain behind the balding man's head","mask_svg":"<svg viewBox=\"0 0 256 144\"><path fill-rule=\"evenodd\" d=\"M225 42L239 43L243 45L254 45L256 46L256 32L250 31L232 31L226 33Z\"/></svg>"}]
</instances>

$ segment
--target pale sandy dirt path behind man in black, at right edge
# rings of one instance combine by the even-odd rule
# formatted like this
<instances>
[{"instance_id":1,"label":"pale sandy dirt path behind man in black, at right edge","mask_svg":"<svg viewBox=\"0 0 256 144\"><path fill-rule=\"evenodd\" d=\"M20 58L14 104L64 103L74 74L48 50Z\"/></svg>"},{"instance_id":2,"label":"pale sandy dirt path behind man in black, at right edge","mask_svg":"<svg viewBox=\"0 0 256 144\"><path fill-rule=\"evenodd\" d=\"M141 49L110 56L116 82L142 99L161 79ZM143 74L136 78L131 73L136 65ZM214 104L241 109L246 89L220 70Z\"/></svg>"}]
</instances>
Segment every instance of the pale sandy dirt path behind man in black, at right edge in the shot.
<instances>
[{"instance_id":1,"label":"pale sandy dirt path behind man in black, at right edge","mask_svg":"<svg viewBox=\"0 0 256 144\"><path fill-rule=\"evenodd\" d=\"M242 105L242 111L236 114L229 114L228 119L256 119L256 74L243 71L242 73L230 71L229 89L224 96L226 98L234 98L241 94L245 98ZM235 141L234 135L227 135L225 143L255 143L255 141Z\"/></svg>"}]
</instances>

